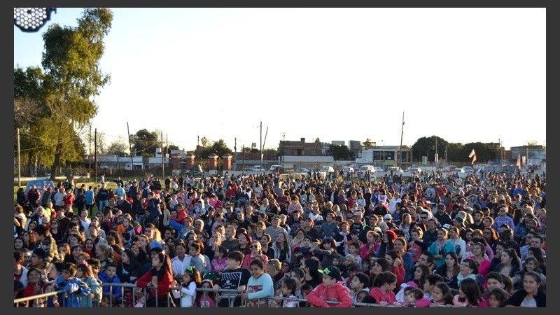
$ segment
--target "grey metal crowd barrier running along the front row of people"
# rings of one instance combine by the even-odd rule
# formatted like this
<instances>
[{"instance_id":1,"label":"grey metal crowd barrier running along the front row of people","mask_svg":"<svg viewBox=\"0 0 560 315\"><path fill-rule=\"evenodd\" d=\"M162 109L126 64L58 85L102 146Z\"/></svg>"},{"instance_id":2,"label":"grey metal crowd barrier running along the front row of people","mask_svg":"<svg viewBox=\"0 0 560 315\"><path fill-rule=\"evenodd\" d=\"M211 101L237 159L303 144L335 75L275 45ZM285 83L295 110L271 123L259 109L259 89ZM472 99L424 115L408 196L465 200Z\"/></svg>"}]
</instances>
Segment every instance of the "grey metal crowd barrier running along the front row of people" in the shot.
<instances>
[{"instance_id":1,"label":"grey metal crowd barrier running along the front row of people","mask_svg":"<svg viewBox=\"0 0 560 315\"><path fill-rule=\"evenodd\" d=\"M146 307L146 302L148 300L148 290L151 288L139 288L134 284L129 283L104 283L102 286L109 286L109 292L111 293L108 295L108 299L105 302L102 302L102 298L99 296L94 297L93 299L93 307ZM127 300L125 298L114 299L113 298L113 287L118 288L120 290L120 296L125 296L125 293L132 292L132 301ZM138 292L138 290L141 290ZM181 287L173 287L172 290L181 290ZM215 292L213 288L197 288L197 293L204 293L204 292ZM136 294L134 294L136 293ZM241 299L241 295L237 294L237 290L234 289L220 289L218 290L218 300L219 296L223 293L235 293L234 297L228 299L228 305L230 307L269 307L269 301L267 299L258 300L258 302L248 301ZM49 298L55 298L58 301L62 301L62 304L59 307L66 307L64 305L65 299L59 299L59 297L64 295L73 295L76 293L66 293L64 290L53 291L50 293L43 293L39 295L33 295L30 297L22 297L19 299L13 300L14 307L27 307L29 306L29 302L31 306L29 307L47 307L47 300ZM307 299L302 298L293 298L293 297L276 297L281 301L297 301L297 307L300 307L300 304L307 304ZM161 302L159 299L165 299L164 302ZM272 300L272 299L270 299ZM144 301L144 302L143 302ZM139 305L141 303L141 306ZM328 304L339 304L339 302L333 301L325 301ZM281 302L280 302L281 304ZM237 305L237 306L236 306ZM173 301L173 297L171 293L167 293L162 297L158 297L158 289L155 288L155 307L180 307L180 305L175 305ZM352 307L381 307L380 304L376 303L361 303L355 302L353 303ZM388 305L387 307L395 307L393 305Z\"/></svg>"}]
</instances>

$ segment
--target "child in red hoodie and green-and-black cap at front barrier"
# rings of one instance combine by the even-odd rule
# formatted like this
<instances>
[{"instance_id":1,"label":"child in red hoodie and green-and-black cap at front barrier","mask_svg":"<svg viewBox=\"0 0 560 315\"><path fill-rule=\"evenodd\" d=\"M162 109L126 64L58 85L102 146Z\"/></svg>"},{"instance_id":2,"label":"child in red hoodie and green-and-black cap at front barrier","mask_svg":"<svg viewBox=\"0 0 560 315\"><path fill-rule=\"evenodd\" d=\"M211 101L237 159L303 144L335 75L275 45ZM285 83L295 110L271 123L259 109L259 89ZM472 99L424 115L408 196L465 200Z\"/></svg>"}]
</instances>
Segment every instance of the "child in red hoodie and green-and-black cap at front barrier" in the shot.
<instances>
[{"instance_id":1,"label":"child in red hoodie and green-and-black cap at front barrier","mask_svg":"<svg viewBox=\"0 0 560 315\"><path fill-rule=\"evenodd\" d=\"M351 307L352 297L340 281L340 270L338 267L330 266L318 270L323 274L323 283L319 284L309 293L307 300L315 307ZM329 302L339 302L328 304Z\"/></svg>"}]
</instances>

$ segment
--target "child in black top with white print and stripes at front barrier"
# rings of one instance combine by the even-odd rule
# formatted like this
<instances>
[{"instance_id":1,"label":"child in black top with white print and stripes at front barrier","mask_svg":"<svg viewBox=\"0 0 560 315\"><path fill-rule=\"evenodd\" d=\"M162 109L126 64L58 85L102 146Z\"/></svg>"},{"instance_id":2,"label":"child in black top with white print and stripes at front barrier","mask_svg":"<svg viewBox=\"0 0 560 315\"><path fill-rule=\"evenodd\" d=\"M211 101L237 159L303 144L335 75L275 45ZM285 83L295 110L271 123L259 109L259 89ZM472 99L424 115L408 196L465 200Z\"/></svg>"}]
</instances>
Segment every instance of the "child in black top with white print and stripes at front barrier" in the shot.
<instances>
[{"instance_id":1,"label":"child in black top with white print and stripes at front barrier","mask_svg":"<svg viewBox=\"0 0 560 315\"><path fill-rule=\"evenodd\" d=\"M241 253L241 251L230 251L227 259L228 262L222 276L220 277L220 283L214 285L214 293L218 293L218 290L222 288L235 289L238 293L242 293L247 287L249 278L251 278L249 270L241 268L244 254ZM218 307L230 307L230 300L236 295L237 293L222 293L220 302L218 302ZM239 307L239 305L241 305L241 301L236 301L234 307Z\"/></svg>"}]
</instances>

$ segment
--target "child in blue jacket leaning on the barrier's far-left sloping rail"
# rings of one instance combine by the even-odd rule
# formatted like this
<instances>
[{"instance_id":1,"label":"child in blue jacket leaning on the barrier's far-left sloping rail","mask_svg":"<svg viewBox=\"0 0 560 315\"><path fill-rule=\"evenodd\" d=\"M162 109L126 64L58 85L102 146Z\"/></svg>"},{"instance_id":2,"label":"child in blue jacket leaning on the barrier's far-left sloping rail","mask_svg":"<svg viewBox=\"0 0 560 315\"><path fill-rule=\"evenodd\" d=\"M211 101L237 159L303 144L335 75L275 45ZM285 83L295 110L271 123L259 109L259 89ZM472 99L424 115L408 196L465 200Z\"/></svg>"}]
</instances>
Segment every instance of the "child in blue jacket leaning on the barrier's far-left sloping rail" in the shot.
<instances>
[{"instance_id":1,"label":"child in blue jacket leaning on the barrier's far-left sloping rail","mask_svg":"<svg viewBox=\"0 0 560 315\"><path fill-rule=\"evenodd\" d=\"M66 262L61 276L55 280L58 289L66 291L58 296L58 304L64 307L80 307L81 297L91 294L87 284L76 278L76 272L76 265Z\"/></svg>"}]
</instances>

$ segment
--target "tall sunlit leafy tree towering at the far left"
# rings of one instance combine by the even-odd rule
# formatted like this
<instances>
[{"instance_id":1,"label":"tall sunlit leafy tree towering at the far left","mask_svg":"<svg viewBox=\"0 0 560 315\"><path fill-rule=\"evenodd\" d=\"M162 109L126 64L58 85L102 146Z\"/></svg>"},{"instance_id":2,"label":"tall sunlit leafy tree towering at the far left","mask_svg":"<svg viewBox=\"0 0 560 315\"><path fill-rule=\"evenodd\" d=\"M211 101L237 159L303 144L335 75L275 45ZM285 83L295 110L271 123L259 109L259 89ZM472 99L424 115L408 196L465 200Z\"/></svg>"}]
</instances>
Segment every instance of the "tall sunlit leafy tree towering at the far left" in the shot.
<instances>
[{"instance_id":1,"label":"tall sunlit leafy tree towering at the far left","mask_svg":"<svg viewBox=\"0 0 560 315\"><path fill-rule=\"evenodd\" d=\"M35 68L14 70L14 107L16 100L19 104L34 102L36 112L40 113L38 119L48 117L41 125L31 122L29 130L41 137L43 146L54 146L52 162L43 157L43 162L50 165L51 180L60 165L82 160L84 151L79 136L97 114L94 97L110 80L108 74L102 73L99 60L112 20L113 13L108 8L85 8L77 27L51 25L43 34L44 73ZM27 84L17 85L22 73L29 75L24 80ZM40 92L37 86L41 87ZM34 132L33 127L41 132ZM43 139L43 134L48 139Z\"/></svg>"}]
</instances>

